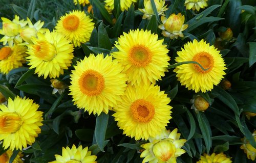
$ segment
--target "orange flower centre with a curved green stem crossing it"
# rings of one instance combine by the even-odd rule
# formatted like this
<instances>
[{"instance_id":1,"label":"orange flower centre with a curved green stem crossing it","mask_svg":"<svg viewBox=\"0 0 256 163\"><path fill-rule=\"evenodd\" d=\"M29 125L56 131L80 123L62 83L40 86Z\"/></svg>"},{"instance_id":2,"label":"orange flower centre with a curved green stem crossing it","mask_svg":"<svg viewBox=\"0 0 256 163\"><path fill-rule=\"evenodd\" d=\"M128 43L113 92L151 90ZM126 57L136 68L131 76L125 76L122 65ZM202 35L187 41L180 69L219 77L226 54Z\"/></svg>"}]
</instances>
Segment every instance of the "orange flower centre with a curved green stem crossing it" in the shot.
<instances>
[{"instance_id":1,"label":"orange flower centre with a curved green stem crossing it","mask_svg":"<svg viewBox=\"0 0 256 163\"><path fill-rule=\"evenodd\" d=\"M193 61L198 62L201 66L203 66L204 69L207 69L204 71L199 65L194 64L195 69L201 73L209 72L212 70L212 67L214 67L214 58L205 51L198 52L194 56Z\"/></svg>"}]
</instances>

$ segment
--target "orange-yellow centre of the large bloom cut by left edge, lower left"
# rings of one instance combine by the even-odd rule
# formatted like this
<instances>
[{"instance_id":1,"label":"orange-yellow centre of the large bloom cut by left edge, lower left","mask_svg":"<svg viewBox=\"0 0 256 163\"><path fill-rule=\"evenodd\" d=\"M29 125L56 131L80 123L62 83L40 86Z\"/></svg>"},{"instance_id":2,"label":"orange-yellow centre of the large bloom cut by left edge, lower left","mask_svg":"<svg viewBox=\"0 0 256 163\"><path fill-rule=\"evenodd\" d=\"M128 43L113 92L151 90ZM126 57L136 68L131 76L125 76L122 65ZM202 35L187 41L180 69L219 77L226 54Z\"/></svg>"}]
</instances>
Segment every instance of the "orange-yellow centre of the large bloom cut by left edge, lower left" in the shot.
<instances>
[{"instance_id":1,"label":"orange-yellow centre of the large bloom cut by left edge, lower left","mask_svg":"<svg viewBox=\"0 0 256 163\"><path fill-rule=\"evenodd\" d=\"M22 126L22 119L17 113L0 113L0 134L15 133Z\"/></svg>"}]
</instances>

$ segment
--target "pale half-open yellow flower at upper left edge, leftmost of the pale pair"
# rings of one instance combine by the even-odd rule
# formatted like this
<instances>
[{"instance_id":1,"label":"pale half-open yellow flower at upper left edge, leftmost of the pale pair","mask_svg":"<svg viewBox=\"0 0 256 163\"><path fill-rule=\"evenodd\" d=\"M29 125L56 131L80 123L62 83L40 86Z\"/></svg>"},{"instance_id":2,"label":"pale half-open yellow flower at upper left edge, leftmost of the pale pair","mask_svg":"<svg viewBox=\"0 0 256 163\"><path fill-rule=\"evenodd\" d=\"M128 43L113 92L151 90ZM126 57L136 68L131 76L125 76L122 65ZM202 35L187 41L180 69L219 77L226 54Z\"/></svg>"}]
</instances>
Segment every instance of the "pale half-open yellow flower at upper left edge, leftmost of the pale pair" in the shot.
<instances>
[{"instance_id":1,"label":"pale half-open yellow flower at upper left edge, leftmost of the pale pair","mask_svg":"<svg viewBox=\"0 0 256 163\"><path fill-rule=\"evenodd\" d=\"M11 21L5 17L2 17L3 20L3 29L0 29L0 34L5 35L0 42L3 42L4 45L8 42L9 46L22 43L22 38L19 35L20 30L28 23L24 19L19 20L19 17L15 15L14 19Z\"/></svg>"}]
</instances>

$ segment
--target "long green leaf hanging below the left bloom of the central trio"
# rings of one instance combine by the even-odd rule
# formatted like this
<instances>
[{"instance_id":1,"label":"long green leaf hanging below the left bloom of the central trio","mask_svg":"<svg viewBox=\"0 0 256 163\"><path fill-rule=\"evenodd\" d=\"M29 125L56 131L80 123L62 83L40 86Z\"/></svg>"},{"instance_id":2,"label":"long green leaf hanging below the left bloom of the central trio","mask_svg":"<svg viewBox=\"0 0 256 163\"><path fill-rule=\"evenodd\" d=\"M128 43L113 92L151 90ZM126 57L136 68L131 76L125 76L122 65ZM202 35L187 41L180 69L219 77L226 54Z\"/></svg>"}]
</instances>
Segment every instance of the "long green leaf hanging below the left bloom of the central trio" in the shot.
<instances>
[{"instance_id":1,"label":"long green leaf hanging below the left bloom of the central trio","mask_svg":"<svg viewBox=\"0 0 256 163\"><path fill-rule=\"evenodd\" d=\"M95 126L95 139L100 150L104 152L104 141L106 134L106 127L108 126L109 115L101 113L96 117L96 126Z\"/></svg>"}]
</instances>

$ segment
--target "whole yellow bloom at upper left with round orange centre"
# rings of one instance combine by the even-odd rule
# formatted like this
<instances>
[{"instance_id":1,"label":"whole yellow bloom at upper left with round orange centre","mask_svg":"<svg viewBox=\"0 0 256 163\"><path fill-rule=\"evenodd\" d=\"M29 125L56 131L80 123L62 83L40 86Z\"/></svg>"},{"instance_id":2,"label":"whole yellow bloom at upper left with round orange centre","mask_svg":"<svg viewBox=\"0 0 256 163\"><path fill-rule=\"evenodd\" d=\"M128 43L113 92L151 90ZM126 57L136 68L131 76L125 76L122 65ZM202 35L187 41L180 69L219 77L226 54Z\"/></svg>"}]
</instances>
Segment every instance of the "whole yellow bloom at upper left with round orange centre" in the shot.
<instances>
[{"instance_id":1,"label":"whole yellow bloom at upper left with round orange centre","mask_svg":"<svg viewBox=\"0 0 256 163\"><path fill-rule=\"evenodd\" d=\"M90 40L94 29L94 22L84 11L74 10L65 16L61 16L55 29L65 35L74 46L81 46Z\"/></svg>"}]
</instances>

